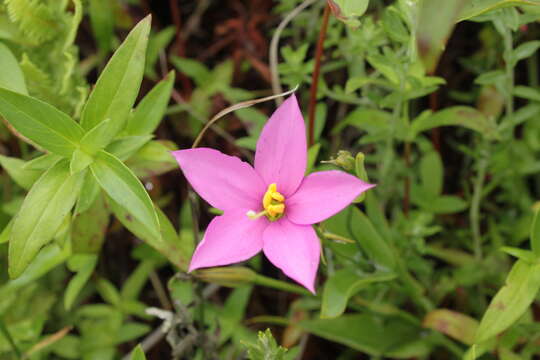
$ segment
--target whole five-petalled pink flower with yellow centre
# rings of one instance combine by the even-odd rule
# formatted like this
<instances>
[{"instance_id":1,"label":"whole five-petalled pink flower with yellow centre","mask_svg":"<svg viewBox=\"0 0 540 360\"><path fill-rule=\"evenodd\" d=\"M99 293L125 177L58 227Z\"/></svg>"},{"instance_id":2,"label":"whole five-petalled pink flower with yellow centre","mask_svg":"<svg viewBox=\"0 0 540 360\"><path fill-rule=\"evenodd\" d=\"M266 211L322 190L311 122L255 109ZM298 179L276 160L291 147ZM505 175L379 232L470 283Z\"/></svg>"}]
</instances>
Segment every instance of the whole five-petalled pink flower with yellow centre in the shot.
<instances>
[{"instance_id":1,"label":"whole five-petalled pink flower with yellow centre","mask_svg":"<svg viewBox=\"0 0 540 360\"><path fill-rule=\"evenodd\" d=\"M311 292L321 252L311 225L338 213L374 186L337 170L304 176L306 132L294 95L262 130L254 168L209 148L173 155L195 191L224 212L208 225L189 271L244 261L262 250Z\"/></svg>"}]
</instances>

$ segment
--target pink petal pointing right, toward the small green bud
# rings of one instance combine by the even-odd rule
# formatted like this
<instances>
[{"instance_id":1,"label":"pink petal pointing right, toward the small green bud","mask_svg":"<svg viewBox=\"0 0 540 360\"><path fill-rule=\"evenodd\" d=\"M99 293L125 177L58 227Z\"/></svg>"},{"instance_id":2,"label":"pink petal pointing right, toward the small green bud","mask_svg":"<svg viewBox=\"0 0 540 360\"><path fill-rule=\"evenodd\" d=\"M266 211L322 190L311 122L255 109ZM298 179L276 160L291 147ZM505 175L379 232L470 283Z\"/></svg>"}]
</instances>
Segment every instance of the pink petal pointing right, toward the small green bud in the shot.
<instances>
[{"instance_id":1,"label":"pink petal pointing right, toward the small green bud","mask_svg":"<svg viewBox=\"0 0 540 360\"><path fill-rule=\"evenodd\" d=\"M285 202L285 214L295 224L315 224L337 214L358 195L374 187L343 171L310 174Z\"/></svg>"}]
</instances>

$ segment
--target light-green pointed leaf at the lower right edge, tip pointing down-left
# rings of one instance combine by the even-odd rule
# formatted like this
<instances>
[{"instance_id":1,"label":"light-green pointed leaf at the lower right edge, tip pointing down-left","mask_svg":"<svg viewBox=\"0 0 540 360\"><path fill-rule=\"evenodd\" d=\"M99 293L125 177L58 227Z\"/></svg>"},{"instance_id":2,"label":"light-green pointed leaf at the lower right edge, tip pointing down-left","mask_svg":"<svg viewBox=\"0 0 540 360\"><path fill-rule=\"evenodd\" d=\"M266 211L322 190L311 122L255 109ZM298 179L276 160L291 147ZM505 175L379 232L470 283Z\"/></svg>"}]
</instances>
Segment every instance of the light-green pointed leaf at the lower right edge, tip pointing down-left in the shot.
<instances>
[{"instance_id":1,"label":"light-green pointed leaf at the lower right edge, tip pointing down-left","mask_svg":"<svg viewBox=\"0 0 540 360\"><path fill-rule=\"evenodd\" d=\"M486 310L475 343L481 343L503 332L515 323L534 301L540 289L540 264L518 260Z\"/></svg>"}]
</instances>

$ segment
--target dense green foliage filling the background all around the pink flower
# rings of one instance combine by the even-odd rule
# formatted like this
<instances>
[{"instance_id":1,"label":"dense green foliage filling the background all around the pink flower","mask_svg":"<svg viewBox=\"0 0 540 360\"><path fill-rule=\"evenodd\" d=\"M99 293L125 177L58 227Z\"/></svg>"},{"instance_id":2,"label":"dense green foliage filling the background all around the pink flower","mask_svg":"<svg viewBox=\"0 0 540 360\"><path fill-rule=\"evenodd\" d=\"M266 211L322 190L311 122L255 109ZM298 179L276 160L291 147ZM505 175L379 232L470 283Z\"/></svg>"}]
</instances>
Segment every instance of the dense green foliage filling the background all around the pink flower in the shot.
<instances>
[{"instance_id":1,"label":"dense green foliage filling the background all around the pink flower","mask_svg":"<svg viewBox=\"0 0 540 360\"><path fill-rule=\"evenodd\" d=\"M137 0L0 0L0 358L538 357L540 2L301 4L201 1L151 29ZM272 75L307 113L326 5L307 173L377 186L315 225L316 294L260 256L187 273L221 212L162 176L170 151ZM248 159L273 108L204 146Z\"/></svg>"}]
</instances>

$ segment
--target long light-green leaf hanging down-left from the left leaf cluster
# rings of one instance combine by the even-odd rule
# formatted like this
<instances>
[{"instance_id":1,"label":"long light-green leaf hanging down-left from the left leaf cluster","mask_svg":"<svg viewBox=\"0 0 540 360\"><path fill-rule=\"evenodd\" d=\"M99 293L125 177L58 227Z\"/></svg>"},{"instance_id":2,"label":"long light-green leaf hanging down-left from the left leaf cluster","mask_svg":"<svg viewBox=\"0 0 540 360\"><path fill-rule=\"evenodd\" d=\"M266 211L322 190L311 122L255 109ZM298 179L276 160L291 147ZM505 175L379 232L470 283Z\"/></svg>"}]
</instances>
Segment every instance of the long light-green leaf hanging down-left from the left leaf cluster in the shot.
<instances>
[{"instance_id":1,"label":"long light-green leaf hanging down-left from the left leaf cluster","mask_svg":"<svg viewBox=\"0 0 540 360\"><path fill-rule=\"evenodd\" d=\"M24 199L9 241L9 274L18 277L39 249L52 240L79 195L84 173L71 175L61 161L34 184Z\"/></svg>"}]
</instances>

